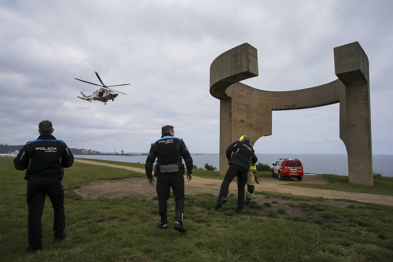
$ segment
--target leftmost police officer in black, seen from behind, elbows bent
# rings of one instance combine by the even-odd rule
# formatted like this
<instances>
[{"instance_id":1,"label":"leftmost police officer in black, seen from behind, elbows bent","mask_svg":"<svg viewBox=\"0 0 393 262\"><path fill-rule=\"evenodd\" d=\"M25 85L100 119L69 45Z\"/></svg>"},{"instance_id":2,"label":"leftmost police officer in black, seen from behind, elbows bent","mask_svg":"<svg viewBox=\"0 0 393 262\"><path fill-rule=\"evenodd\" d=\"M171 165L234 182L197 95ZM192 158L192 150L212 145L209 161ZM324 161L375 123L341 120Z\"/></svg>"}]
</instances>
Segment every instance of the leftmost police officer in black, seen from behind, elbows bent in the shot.
<instances>
[{"instance_id":1,"label":"leftmost police officer in black, seen from behind, elbows bent","mask_svg":"<svg viewBox=\"0 0 393 262\"><path fill-rule=\"evenodd\" d=\"M26 170L29 246L26 251L42 250L41 216L46 195L53 207L53 243L63 240L66 220L64 215L64 190L61 180L64 167L71 167L74 157L62 140L56 139L52 123L42 121L38 126L40 136L29 141L14 159L15 169Z\"/></svg>"}]
</instances>

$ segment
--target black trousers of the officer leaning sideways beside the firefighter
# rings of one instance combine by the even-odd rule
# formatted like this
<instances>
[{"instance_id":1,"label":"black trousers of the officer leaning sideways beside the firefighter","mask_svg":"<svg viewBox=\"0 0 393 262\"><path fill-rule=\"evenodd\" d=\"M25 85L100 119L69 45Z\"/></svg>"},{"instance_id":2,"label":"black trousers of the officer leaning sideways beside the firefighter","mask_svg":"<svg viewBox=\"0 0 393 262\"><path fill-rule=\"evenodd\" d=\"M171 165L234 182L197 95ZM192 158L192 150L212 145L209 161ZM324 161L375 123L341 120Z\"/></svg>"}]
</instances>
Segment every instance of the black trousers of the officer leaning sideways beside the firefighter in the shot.
<instances>
[{"instance_id":1,"label":"black trousers of the officer leaning sideways beside the firefighter","mask_svg":"<svg viewBox=\"0 0 393 262\"><path fill-rule=\"evenodd\" d=\"M237 164L230 164L226 171L224 181L221 183L219 198L226 198L228 196L229 184L237 176L237 208L243 210L244 206L244 187L247 183L248 170Z\"/></svg>"}]
</instances>

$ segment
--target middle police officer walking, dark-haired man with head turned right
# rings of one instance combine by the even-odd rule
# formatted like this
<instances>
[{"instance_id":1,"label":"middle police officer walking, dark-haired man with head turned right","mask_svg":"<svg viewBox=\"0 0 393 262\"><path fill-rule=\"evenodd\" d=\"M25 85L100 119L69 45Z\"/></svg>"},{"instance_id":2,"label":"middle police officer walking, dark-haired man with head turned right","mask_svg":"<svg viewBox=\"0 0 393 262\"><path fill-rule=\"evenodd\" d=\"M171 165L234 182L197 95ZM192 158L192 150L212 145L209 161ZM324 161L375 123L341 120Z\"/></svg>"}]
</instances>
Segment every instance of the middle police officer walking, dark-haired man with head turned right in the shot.
<instances>
[{"instance_id":1,"label":"middle police officer walking, dark-haired man with head turned right","mask_svg":"<svg viewBox=\"0 0 393 262\"><path fill-rule=\"evenodd\" d=\"M187 167L187 179L192 179L193 159L185 147L183 139L174 136L173 126L162 126L161 138L151 144L149 155L146 159L145 171L150 185L154 185L154 177L152 175L153 163L157 158L154 176L157 176L157 197L158 211L160 221L157 226L161 229L168 228L167 221L167 201L171 188L174 195L175 222L173 228L179 232L185 232L187 229L183 226L184 212L184 159Z\"/></svg>"}]
</instances>

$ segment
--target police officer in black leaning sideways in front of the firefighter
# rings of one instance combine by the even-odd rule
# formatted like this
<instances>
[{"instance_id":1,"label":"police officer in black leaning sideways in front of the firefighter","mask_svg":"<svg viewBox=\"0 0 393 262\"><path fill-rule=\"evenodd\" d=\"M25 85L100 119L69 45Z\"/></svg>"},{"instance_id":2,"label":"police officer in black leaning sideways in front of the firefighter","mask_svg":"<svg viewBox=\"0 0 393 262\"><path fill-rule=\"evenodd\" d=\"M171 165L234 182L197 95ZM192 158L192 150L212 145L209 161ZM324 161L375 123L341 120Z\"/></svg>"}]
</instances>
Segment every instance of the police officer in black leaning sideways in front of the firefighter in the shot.
<instances>
[{"instance_id":1,"label":"police officer in black leaning sideways in front of the firefighter","mask_svg":"<svg viewBox=\"0 0 393 262\"><path fill-rule=\"evenodd\" d=\"M254 149L250 145L250 137L244 136L242 141L233 142L225 151L229 168L226 171L224 181L222 181L219 199L215 209L222 207L226 203L229 184L237 176L237 207L235 213L241 214L244 206L244 187L247 183L247 172L250 170L250 159L252 163L257 163Z\"/></svg>"}]
</instances>

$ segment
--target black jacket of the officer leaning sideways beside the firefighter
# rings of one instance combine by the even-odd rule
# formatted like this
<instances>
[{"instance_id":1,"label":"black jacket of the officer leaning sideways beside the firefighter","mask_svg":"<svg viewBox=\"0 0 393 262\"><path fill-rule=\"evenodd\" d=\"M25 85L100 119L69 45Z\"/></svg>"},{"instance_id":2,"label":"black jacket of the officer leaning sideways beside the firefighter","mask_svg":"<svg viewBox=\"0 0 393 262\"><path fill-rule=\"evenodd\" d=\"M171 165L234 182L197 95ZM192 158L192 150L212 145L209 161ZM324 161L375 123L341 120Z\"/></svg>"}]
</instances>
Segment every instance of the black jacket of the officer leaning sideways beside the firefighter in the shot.
<instances>
[{"instance_id":1,"label":"black jacket of the officer leaning sideways beside the firefighter","mask_svg":"<svg viewBox=\"0 0 393 262\"><path fill-rule=\"evenodd\" d=\"M225 151L226 158L230 164L241 165L245 169L250 169L250 160L257 163L254 149L247 141L235 141Z\"/></svg>"}]
</instances>

